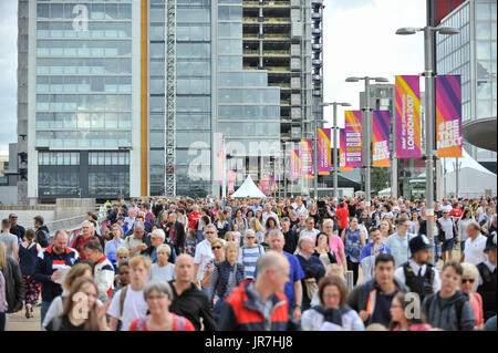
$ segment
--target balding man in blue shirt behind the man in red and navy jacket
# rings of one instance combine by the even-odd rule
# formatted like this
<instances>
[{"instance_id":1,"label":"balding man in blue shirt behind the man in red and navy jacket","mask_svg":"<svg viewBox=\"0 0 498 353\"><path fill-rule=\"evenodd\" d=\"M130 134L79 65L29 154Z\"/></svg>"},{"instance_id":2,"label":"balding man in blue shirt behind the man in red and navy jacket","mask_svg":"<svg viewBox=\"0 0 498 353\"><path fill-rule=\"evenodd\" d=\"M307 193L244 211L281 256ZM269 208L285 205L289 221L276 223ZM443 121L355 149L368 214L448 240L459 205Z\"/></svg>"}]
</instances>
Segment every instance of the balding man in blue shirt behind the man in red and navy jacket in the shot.
<instances>
[{"instance_id":1,"label":"balding man in blue shirt behind the man in red and navy jacket","mask_svg":"<svg viewBox=\"0 0 498 353\"><path fill-rule=\"evenodd\" d=\"M286 283L284 294L289 301L289 313L297 320L301 320L301 307L302 307L302 285L301 280L304 278L304 272L302 271L299 260L293 255L283 251L283 246L286 245L286 238L280 230L272 230L268 236L268 242L270 243L270 249L282 253L287 257L290 264L289 282ZM255 273L255 278L258 274Z\"/></svg>"}]
</instances>

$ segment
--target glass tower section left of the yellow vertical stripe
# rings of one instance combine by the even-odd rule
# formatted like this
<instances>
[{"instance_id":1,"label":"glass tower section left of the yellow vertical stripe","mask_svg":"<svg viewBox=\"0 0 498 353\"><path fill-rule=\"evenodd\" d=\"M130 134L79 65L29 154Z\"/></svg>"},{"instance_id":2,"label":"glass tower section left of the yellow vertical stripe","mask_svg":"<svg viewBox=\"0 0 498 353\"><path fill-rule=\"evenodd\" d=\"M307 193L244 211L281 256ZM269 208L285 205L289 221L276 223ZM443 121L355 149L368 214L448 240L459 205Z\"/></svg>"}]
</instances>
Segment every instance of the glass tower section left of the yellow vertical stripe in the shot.
<instances>
[{"instance_id":1,"label":"glass tower section left of the yellow vertical stripe","mask_svg":"<svg viewBox=\"0 0 498 353\"><path fill-rule=\"evenodd\" d=\"M132 0L38 0L31 10L31 196L129 196Z\"/></svg>"}]
</instances>

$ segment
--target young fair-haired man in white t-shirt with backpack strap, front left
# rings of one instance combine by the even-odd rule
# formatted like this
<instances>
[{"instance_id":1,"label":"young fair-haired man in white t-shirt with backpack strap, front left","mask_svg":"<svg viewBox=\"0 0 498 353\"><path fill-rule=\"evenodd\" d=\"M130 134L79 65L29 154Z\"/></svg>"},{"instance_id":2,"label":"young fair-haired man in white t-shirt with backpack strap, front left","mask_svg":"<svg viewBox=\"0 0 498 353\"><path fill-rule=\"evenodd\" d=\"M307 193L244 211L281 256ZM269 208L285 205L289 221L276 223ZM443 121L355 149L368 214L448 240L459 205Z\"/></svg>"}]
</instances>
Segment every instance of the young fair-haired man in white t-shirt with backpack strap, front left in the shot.
<instances>
[{"instance_id":1,"label":"young fair-haired man in white t-shirt with backpack strap, front left","mask_svg":"<svg viewBox=\"0 0 498 353\"><path fill-rule=\"evenodd\" d=\"M107 310L112 331L128 331L135 319L147 313L144 287L151 264L151 259L144 256L136 256L129 260L131 283L115 293Z\"/></svg>"}]
</instances>

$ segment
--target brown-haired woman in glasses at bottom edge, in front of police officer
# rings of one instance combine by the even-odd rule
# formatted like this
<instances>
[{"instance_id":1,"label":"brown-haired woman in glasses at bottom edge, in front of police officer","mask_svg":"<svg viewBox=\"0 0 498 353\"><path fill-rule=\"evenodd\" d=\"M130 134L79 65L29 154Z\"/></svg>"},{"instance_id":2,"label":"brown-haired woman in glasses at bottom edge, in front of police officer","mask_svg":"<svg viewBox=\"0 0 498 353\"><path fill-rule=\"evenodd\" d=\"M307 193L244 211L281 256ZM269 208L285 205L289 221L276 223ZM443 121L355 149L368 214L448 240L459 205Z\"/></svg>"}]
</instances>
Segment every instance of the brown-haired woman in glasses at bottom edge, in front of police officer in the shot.
<instances>
[{"instance_id":1,"label":"brown-haired woman in glasses at bottom edge, in front of police officer","mask_svg":"<svg viewBox=\"0 0 498 353\"><path fill-rule=\"evenodd\" d=\"M408 293L409 294L409 293ZM421 312L419 316L408 319L405 315L405 309L409 304L413 305L413 297L402 293L393 298L391 304L391 331L429 331L432 326L425 322L424 314Z\"/></svg>"}]
</instances>

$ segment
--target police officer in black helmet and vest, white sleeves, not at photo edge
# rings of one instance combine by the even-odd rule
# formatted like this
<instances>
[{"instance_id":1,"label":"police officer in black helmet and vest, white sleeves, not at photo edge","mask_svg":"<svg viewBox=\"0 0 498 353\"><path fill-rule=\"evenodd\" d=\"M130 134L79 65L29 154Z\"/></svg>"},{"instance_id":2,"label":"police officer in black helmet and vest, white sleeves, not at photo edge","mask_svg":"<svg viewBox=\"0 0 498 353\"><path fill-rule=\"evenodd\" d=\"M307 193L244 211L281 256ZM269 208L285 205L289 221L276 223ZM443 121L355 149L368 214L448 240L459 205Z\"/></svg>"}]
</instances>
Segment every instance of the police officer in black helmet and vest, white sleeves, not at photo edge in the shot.
<instances>
[{"instance_id":1,"label":"police officer in black helmet and vest, white sleeves, not at photo edge","mask_svg":"<svg viewBox=\"0 0 498 353\"><path fill-rule=\"evenodd\" d=\"M426 236L416 236L408 245L412 259L394 271L394 278L417 293L422 303L425 297L440 289L439 273L429 263L432 247Z\"/></svg>"}]
</instances>

